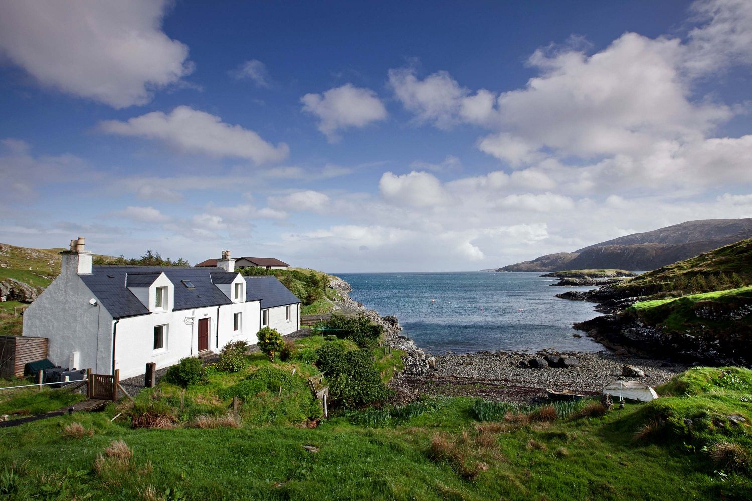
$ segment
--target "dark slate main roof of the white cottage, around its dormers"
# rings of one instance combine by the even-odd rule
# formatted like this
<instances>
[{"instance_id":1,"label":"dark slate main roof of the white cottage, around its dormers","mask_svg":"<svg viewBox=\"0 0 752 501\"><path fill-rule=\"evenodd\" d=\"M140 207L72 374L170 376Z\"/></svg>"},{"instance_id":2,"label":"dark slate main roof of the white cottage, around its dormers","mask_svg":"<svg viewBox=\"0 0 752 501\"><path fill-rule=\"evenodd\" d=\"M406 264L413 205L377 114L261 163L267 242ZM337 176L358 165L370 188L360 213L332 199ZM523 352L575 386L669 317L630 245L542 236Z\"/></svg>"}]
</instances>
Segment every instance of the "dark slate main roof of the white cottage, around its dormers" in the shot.
<instances>
[{"instance_id":1,"label":"dark slate main roof of the white cottage, around its dormers","mask_svg":"<svg viewBox=\"0 0 752 501\"><path fill-rule=\"evenodd\" d=\"M177 266L123 266L117 264L104 264L92 267L92 273L79 275L99 299L102 306L108 309L114 318L123 318L134 315L147 315L149 309L141 303L137 297L126 287L126 274L128 282L135 273L136 276L165 272L168 279L174 285L174 309L200 308L202 306L217 306L229 304L229 298L217 288L211 280L211 274L228 274L216 267L177 267ZM156 278L155 276L155 278ZM273 278L277 283L276 278ZM135 279L134 279L135 280ZM187 288L181 280L189 280L195 288ZM152 280L153 282L153 280ZM150 282L151 283L151 282ZM284 285L280 283L284 288ZM132 286L132 285L131 285ZM246 300L260 300L262 296L255 290L250 291L246 286ZM285 288L287 291L287 288ZM294 297L294 296L293 296ZM297 299L297 298L296 298Z\"/></svg>"}]
</instances>

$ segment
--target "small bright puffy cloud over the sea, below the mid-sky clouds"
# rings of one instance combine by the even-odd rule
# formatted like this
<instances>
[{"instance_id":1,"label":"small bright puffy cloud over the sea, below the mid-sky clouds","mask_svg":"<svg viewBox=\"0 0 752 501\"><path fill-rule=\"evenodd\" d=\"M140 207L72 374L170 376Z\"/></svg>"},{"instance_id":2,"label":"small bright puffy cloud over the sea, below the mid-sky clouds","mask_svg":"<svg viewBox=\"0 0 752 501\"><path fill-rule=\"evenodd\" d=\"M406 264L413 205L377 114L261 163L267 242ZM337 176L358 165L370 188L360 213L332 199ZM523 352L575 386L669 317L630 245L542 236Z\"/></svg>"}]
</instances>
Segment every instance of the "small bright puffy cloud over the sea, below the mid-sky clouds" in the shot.
<instances>
[{"instance_id":1,"label":"small bright puffy cloud over the sea, below the mid-sky clouds","mask_svg":"<svg viewBox=\"0 0 752 501\"><path fill-rule=\"evenodd\" d=\"M412 171L402 176L385 172L378 188L384 198L397 204L432 207L447 201L447 193L439 180L427 172Z\"/></svg>"}]
</instances>

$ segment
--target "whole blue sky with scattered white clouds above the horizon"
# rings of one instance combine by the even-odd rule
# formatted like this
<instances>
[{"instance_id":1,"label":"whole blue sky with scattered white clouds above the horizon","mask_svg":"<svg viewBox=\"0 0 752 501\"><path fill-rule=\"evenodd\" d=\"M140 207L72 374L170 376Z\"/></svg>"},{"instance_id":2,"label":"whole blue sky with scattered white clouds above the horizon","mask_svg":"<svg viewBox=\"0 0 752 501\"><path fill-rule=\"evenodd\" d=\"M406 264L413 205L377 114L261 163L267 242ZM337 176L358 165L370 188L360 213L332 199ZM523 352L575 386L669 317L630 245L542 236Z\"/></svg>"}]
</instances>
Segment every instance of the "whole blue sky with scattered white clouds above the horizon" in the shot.
<instances>
[{"instance_id":1,"label":"whole blue sky with scattered white clouds above the horizon","mask_svg":"<svg viewBox=\"0 0 752 501\"><path fill-rule=\"evenodd\" d=\"M474 270L752 217L752 2L0 2L0 242Z\"/></svg>"}]
</instances>

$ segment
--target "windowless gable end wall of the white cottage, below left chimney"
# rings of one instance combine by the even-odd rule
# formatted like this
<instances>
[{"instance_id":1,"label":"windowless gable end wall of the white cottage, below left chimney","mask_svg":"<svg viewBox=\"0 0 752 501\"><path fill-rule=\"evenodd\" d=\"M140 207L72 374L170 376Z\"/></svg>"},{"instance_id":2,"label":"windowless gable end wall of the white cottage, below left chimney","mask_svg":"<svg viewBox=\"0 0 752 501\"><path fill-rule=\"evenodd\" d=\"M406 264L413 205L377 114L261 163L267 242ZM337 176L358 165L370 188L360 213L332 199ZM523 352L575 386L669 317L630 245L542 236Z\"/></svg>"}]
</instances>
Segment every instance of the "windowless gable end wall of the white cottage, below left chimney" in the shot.
<instances>
[{"instance_id":1,"label":"windowless gable end wall of the white cottage, below left chimney","mask_svg":"<svg viewBox=\"0 0 752 501\"><path fill-rule=\"evenodd\" d=\"M112 370L112 315L74 273L61 273L23 312L23 335L47 338L47 358L68 367L78 352L80 367ZM71 367L72 369L72 367Z\"/></svg>"}]
</instances>

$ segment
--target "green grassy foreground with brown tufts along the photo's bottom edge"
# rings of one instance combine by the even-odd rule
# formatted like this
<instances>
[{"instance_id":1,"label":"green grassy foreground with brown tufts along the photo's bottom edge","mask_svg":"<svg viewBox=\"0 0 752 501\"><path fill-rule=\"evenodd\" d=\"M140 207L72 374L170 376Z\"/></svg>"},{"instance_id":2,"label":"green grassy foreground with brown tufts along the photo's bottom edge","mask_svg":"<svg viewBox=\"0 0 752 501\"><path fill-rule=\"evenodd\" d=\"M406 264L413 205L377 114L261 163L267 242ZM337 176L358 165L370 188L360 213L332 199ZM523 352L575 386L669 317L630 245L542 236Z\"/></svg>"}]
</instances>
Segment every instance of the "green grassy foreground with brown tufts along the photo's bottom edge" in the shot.
<instances>
[{"instance_id":1,"label":"green grassy foreground with brown tufts along the photo's bottom edge","mask_svg":"<svg viewBox=\"0 0 752 501\"><path fill-rule=\"evenodd\" d=\"M112 423L120 409L109 406L4 430L0 495L749 499L750 371L695 369L659 389L675 396L611 412L584 404L553 416L506 406L511 411L493 421L478 418L482 406L475 400L429 399L409 418L365 426L355 415L340 416L314 429L134 430L127 419ZM747 423L729 424L729 414ZM691 428L684 419L693 420Z\"/></svg>"}]
</instances>

